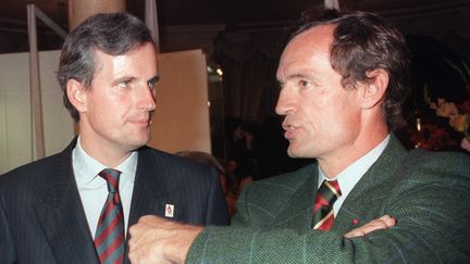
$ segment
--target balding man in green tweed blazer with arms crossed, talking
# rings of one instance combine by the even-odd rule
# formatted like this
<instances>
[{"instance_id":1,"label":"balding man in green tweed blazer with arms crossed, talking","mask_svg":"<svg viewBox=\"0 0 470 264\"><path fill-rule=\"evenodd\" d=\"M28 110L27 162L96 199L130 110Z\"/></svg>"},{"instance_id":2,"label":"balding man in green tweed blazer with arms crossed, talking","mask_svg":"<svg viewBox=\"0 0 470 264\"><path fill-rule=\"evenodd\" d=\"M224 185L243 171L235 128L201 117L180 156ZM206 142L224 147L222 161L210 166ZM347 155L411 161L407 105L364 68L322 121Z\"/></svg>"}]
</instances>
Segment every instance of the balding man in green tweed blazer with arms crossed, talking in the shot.
<instances>
[{"instance_id":1,"label":"balding man in green tweed blazer with arms crossed, talking","mask_svg":"<svg viewBox=\"0 0 470 264\"><path fill-rule=\"evenodd\" d=\"M391 133L407 53L371 13L305 22L281 56L276 112L289 155L317 162L248 185L231 227L143 217L131 261L469 263L469 156L407 151Z\"/></svg>"}]
</instances>

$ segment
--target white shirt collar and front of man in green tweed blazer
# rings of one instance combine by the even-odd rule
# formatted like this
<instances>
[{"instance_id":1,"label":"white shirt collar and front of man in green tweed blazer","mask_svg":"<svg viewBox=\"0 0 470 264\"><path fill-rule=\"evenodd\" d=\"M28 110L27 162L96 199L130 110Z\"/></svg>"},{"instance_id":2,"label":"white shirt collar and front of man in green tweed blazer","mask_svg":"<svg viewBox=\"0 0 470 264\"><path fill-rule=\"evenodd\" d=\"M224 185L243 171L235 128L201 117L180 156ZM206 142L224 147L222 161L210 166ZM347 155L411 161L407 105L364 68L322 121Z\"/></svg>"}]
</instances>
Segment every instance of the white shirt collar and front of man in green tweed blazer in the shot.
<instances>
[{"instance_id":1,"label":"white shirt collar and front of man in green tweed blazer","mask_svg":"<svg viewBox=\"0 0 470 264\"><path fill-rule=\"evenodd\" d=\"M387 135L381 143L379 143L375 148L369 151L366 155L361 156L355 163L350 164L345 169L343 169L343 172L336 175L335 178L332 179L326 178L319 166L319 186L317 188L320 188L320 185L323 183L324 179L325 180L337 179L339 189L342 191L342 196L333 204L334 216L337 215L343 202L345 201L349 192L352 190L355 185L359 181L360 178L362 178L366 172L372 166L372 164L382 154L382 152L384 151L385 147L389 141L389 137L391 136Z\"/></svg>"}]
</instances>

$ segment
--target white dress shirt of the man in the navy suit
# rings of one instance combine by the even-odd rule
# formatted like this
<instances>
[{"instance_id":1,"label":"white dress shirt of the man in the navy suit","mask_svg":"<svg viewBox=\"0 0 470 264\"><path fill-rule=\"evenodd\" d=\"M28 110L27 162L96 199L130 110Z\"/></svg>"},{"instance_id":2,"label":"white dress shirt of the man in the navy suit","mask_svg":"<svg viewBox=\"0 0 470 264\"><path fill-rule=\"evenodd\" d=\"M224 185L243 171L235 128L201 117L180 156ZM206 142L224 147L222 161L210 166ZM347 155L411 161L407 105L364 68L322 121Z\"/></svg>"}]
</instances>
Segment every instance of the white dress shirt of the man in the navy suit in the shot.
<instances>
[{"instance_id":1,"label":"white dress shirt of the man in the navy suit","mask_svg":"<svg viewBox=\"0 0 470 264\"><path fill-rule=\"evenodd\" d=\"M127 234L128 214L131 211L131 200L137 168L137 152L134 151L123 163L113 167L121 172L119 191L124 210L125 234ZM108 197L107 181L99 177L98 174L107 168L107 166L85 152L82 148L79 137L72 152L72 164L91 237L95 238L98 219Z\"/></svg>"}]
</instances>

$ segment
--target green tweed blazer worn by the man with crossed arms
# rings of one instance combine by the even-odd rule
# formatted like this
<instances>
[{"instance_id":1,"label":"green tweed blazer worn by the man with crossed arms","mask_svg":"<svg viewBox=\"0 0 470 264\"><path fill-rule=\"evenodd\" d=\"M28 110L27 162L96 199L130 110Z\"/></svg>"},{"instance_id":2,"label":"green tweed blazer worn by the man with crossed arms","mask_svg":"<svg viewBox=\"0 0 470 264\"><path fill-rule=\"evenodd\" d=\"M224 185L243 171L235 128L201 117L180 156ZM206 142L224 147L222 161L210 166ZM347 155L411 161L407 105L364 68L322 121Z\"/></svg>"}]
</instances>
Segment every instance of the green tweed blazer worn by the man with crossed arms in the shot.
<instances>
[{"instance_id":1,"label":"green tweed blazer worn by the man with crossed arms","mask_svg":"<svg viewBox=\"0 0 470 264\"><path fill-rule=\"evenodd\" d=\"M186 263L470 263L470 156L407 151L392 135L330 231L311 229L318 165L248 185L231 227L210 226ZM384 214L395 227L346 239Z\"/></svg>"}]
</instances>

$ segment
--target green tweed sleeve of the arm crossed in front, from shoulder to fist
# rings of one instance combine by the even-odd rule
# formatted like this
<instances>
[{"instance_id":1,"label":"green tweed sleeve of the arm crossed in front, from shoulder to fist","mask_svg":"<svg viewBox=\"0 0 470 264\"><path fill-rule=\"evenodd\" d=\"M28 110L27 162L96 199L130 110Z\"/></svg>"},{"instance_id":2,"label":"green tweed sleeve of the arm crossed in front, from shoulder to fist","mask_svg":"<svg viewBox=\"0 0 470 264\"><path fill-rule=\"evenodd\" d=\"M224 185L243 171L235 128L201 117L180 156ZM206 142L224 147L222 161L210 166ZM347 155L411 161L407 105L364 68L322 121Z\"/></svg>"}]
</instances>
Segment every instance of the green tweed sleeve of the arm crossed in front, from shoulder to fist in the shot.
<instances>
[{"instance_id":1,"label":"green tweed sleeve of the arm crossed in front, from shoulder to fist","mask_svg":"<svg viewBox=\"0 0 470 264\"><path fill-rule=\"evenodd\" d=\"M255 227L245 193L233 226L205 228L187 263L469 263L469 159L436 164L407 171L399 191L384 193L376 210L394 216L395 227L352 239L337 230Z\"/></svg>"}]
</instances>

